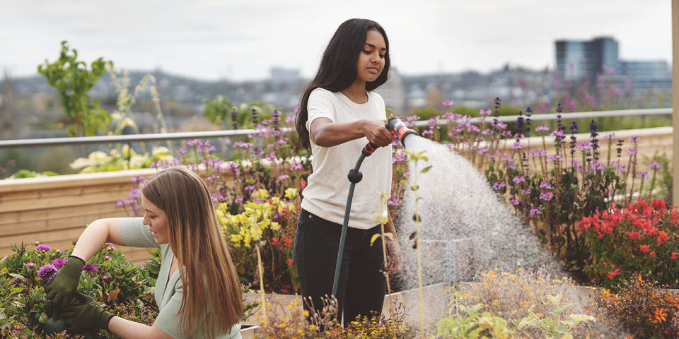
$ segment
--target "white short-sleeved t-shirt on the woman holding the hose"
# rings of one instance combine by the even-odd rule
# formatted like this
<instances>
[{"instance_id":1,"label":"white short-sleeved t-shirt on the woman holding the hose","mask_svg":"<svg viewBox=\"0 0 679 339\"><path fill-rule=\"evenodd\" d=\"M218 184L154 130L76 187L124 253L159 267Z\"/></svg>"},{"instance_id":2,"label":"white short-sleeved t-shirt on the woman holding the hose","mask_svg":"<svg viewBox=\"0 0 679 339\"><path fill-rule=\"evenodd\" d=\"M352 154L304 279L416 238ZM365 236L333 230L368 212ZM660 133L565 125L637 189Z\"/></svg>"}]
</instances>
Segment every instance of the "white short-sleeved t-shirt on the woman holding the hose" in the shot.
<instances>
[{"instance_id":1,"label":"white short-sleeved t-shirt on the woman holding the hose","mask_svg":"<svg viewBox=\"0 0 679 339\"><path fill-rule=\"evenodd\" d=\"M368 92L368 102L356 104L341 92L333 93L316 88L309 96L307 110L307 129L310 129L311 123L317 118L327 118L336 123L386 119L384 100L375 92ZM311 140L313 173L308 177L308 184L303 191L301 207L320 218L341 225L344 222L344 209L351 184L347 174L349 169L354 168L361 150L367 144L366 137L332 147L321 147ZM387 215L386 207L379 213L380 195L391 192L391 164L391 145L378 148L365 158L359 169L363 173L363 179L354 188L349 227L367 230L379 224L376 218Z\"/></svg>"}]
</instances>

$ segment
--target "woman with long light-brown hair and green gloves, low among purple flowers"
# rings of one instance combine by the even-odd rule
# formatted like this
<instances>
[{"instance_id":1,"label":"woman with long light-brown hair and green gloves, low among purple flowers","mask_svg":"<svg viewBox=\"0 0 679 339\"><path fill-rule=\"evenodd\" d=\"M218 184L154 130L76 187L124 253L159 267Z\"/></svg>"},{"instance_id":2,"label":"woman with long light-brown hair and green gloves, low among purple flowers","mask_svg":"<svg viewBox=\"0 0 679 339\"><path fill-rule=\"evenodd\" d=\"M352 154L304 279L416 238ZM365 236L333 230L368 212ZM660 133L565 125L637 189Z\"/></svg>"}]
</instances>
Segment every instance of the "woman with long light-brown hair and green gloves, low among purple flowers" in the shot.
<instances>
[{"instance_id":1,"label":"woman with long light-brown hair and green gloves, low among purple flowers","mask_svg":"<svg viewBox=\"0 0 679 339\"><path fill-rule=\"evenodd\" d=\"M243 295L203 180L188 169L165 169L142 186L141 203L144 218L100 219L86 228L45 287L54 309L71 328L120 338L240 339ZM89 297L69 304L83 265L106 242L161 250L153 326L113 316Z\"/></svg>"}]
</instances>

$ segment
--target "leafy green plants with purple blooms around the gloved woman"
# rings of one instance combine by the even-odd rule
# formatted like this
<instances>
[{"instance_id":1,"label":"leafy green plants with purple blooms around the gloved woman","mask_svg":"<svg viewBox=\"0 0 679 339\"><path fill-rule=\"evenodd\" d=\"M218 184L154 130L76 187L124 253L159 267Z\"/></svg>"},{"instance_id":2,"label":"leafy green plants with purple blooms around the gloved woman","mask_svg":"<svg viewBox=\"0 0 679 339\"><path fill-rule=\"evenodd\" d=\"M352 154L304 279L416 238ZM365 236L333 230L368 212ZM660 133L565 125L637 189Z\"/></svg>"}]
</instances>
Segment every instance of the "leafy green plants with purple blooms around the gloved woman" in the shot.
<instances>
[{"instance_id":1,"label":"leafy green plants with purple blooms around the gloved woman","mask_svg":"<svg viewBox=\"0 0 679 339\"><path fill-rule=\"evenodd\" d=\"M61 267L73 249L62 251L50 246L35 248L25 244L14 245L14 252L0 261L0 337L36 338L51 314L50 302L45 296L45 283L51 275L42 273L41 268L54 265ZM139 266L123 256L115 245L107 243L92 258L80 278L78 289L103 304L113 314L138 323L151 326L158 315L158 306L153 299L160 251L153 251L153 258ZM43 269L44 270L44 269ZM248 286L243 286L248 292ZM259 307L257 302L243 299L243 321ZM73 338L60 333L50 338ZM117 338L108 331L100 331L97 338Z\"/></svg>"}]
</instances>

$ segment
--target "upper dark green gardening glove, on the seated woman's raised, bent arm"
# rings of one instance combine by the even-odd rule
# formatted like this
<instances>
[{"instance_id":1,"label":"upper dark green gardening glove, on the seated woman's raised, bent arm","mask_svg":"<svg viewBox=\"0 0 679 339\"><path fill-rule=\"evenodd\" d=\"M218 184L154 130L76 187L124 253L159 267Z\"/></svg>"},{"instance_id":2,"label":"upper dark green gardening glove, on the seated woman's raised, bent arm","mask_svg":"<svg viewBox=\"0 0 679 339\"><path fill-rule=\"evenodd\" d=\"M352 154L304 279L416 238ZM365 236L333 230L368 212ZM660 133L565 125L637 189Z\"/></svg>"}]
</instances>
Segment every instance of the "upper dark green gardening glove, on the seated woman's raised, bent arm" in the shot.
<instances>
[{"instance_id":1,"label":"upper dark green gardening glove, on the seated woman's raised, bent arm","mask_svg":"<svg viewBox=\"0 0 679 339\"><path fill-rule=\"evenodd\" d=\"M83 259L69 256L64 267L45 285L47 299L52 300L54 310L62 309L71 299L71 294L78 288L83 266L85 266Z\"/></svg>"}]
</instances>

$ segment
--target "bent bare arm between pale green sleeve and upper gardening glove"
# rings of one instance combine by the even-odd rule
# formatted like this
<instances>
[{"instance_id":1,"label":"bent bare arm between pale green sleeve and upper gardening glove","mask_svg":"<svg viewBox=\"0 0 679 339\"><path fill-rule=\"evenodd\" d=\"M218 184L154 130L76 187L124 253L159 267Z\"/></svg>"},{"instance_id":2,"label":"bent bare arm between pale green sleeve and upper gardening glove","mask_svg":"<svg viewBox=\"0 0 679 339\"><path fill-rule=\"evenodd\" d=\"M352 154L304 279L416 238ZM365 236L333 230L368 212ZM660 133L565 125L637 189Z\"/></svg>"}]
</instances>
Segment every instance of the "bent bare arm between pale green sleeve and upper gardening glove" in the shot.
<instances>
[{"instance_id":1,"label":"bent bare arm between pale green sleeve and upper gardening glove","mask_svg":"<svg viewBox=\"0 0 679 339\"><path fill-rule=\"evenodd\" d=\"M107 242L124 245L120 237L120 222L124 218L108 218L93 221L78 238L73 255L88 261Z\"/></svg>"}]
</instances>

